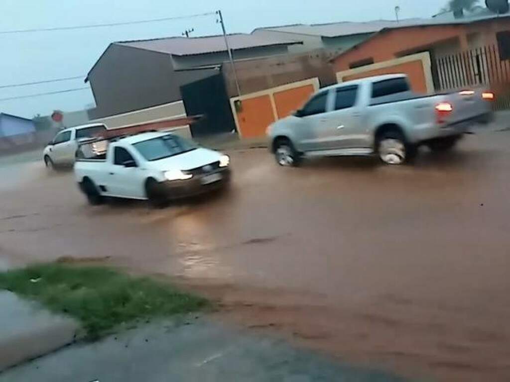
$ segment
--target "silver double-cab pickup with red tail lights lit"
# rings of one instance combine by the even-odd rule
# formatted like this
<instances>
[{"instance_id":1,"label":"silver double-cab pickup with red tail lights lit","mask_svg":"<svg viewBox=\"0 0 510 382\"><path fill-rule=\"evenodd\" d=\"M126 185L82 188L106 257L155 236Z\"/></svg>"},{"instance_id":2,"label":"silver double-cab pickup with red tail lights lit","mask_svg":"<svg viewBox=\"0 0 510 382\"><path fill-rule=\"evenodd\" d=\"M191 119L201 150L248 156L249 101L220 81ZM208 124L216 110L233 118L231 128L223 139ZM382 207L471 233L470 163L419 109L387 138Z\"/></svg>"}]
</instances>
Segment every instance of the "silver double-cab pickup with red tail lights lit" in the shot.
<instances>
[{"instance_id":1,"label":"silver double-cab pickup with red tail lights lit","mask_svg":"<svg viewBox=\"0 0 510 382\"><path fill-rule=\"evenodd\" d=\"M372 154L400 165L420 145L449 150L470 125L489 122L492 99L481 89L416 95L404 74L349 81L319 90L269 126L269 147L281 166L297 166L303 157Z\"/></svg>"}]
</instances>

